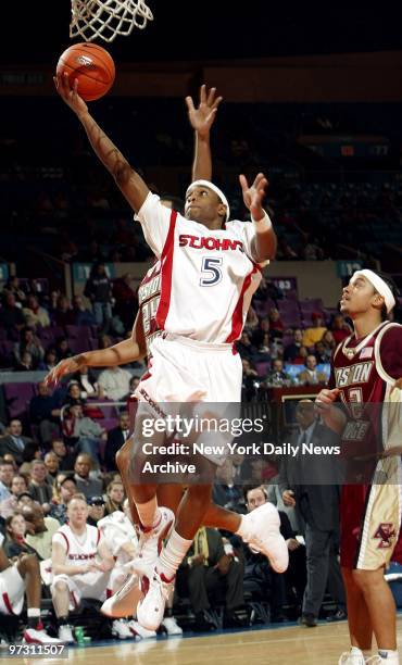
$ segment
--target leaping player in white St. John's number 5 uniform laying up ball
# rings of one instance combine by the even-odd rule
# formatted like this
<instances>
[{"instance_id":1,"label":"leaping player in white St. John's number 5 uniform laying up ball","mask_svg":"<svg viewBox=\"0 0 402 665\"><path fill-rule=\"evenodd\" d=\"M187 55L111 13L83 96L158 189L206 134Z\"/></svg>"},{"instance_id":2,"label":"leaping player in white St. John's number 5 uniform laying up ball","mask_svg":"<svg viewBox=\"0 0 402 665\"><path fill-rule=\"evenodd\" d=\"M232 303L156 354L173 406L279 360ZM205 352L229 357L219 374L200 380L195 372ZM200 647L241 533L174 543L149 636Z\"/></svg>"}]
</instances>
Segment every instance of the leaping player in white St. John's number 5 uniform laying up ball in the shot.
<instances>
[{"instance_id":1,"label":"leaping player in white St. John's number 5 uniform laying up ball","mask_svg":"<svg viewBox=\"0 0 402 665\"><path fill-rule=\"evenodd\" d=\"M161 204L97 125L77 93L77 81L74 89L66 76L58 77L55 83L97 155L138 213L146 239L161 261L161 298L155 318L163 335L152 343L152 368L136 392L145 413L150 404L158 403L240 402L241 362L233 344L241 335L251 297L261 280L257 264L264 264L276 251L276 236L262 208L267 184L264 175L260 173L251 187L240 176L251 223L229 222L226 197L204 180L192 183L188 189L183 217ZM223 457L216 454L205 455L199 469L211 473L213 464L222 462ZM140 474L140 466L137 455L134 473ZM141 486L134 478L131 491L140 522L148 530L163 519L155 490L155 486ZM162 620L169 585L202 524L211 491L210 484L189 487L177 512L176 527L155 568L147 572L149 590L137 613L145 628L155 629ZM272 563L285 569L288 553L279 540L277 513L272 522L276 529L276 540L274 528L272 531ZM166 519L166 529L168 526Z\"/></svg>"}]
</instances>

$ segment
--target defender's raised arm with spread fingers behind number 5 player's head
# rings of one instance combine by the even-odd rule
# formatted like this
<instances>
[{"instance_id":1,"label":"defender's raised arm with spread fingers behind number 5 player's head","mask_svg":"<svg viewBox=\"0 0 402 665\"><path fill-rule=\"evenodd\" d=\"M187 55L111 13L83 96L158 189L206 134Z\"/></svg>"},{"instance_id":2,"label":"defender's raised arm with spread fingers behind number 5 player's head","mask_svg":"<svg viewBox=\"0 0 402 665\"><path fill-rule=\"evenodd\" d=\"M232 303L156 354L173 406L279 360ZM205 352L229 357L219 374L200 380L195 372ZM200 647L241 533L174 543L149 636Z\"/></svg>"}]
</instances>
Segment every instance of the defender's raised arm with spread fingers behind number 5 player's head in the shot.
<instances>
[{"instance_id":1,"label":"defender's raised arm with spread fingers behind number 5 player's head","mask_svg":"<svg viewBox=\"0 0 402 665\"><path fill-rule=\"evenodd\" d=\"M210 133L222 99L222 97L216 97L216 88L206 90L205 85L201 86L200 102L197 109L192 98L186 97L188 118L194 130L194 159L191 172L192 181L211 180L212 178Z\"/></svg>"}]
</instances>

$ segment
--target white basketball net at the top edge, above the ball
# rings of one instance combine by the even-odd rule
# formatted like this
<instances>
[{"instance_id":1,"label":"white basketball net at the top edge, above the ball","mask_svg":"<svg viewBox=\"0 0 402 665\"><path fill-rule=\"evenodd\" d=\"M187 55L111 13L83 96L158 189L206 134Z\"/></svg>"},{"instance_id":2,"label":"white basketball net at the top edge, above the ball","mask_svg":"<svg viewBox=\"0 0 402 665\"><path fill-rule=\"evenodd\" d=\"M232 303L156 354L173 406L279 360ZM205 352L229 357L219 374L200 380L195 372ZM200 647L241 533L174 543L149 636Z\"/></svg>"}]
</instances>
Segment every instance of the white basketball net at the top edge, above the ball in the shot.
<instances>
[{"instance_id":1,"label":"white basketball net at the top edge, above the ball","mask_svg":"<svg viewBox=\"0 0 402 665\"><path fill-rule=\"evenodd\" d=\"M70 37L113 41L135 27L142 30L148 21L153 15L145 0L72 0Z\"/></svg>"}]
</instances>

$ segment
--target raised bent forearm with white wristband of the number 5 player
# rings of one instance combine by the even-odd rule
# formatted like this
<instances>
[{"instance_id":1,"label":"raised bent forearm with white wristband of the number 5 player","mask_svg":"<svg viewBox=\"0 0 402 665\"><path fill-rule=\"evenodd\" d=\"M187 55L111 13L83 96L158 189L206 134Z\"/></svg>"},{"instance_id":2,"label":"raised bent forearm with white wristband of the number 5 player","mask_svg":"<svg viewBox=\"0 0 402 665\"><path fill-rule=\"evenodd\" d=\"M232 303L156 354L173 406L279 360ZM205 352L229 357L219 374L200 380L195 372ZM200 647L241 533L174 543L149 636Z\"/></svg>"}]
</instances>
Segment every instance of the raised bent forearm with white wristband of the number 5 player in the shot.
<instances>
[{"instance_id":1,"label":"raised bent forearm with white wristband of the number 5 player","mask_svg":"<svg viewBox=\"0 0 402 665\"><path fill-rule=\"evenodd\" d=\"M239 179L244 205L249 209L255 226L253 258L257 263L268 259L275 259L277 246L276 234L267 213L263 209L265 188L268 186L268 180L263 173L256 175L252 185L248 184L243 175L240 175Z\"/></svg>"}]
</instances>

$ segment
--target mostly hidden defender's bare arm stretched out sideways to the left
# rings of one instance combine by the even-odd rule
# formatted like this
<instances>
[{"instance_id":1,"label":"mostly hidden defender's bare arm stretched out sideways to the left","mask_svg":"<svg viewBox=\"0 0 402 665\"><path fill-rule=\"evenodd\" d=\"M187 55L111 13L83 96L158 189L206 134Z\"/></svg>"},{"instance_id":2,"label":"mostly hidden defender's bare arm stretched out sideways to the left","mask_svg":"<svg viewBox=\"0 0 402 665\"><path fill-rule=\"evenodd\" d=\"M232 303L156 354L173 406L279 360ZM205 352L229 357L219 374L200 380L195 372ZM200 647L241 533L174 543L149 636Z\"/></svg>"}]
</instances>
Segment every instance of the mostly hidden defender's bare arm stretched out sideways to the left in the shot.
<instances>
[{"instance_id":1,"label":"mostly hidden defender's bare arm stretched out sideways to the left","mask_svg":"<svg viewBox=\"0 0 402 665\"><path fill-rule=\"evenodd\" d=\"M127 365L127 363L140 360L145 355L146 343L143 331L140 316L137 315L129 339L124 339L117 344L109 347L109 349L86 351L85 353L79 353L78 355L63 360L49 372L45 377L45 381L48 385L55 385L61 381L63 376L78 372L80 367L114 367L116 365Z\"/></svg>"}]
</instances>

